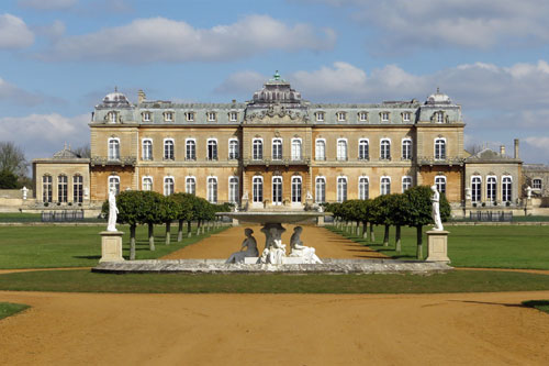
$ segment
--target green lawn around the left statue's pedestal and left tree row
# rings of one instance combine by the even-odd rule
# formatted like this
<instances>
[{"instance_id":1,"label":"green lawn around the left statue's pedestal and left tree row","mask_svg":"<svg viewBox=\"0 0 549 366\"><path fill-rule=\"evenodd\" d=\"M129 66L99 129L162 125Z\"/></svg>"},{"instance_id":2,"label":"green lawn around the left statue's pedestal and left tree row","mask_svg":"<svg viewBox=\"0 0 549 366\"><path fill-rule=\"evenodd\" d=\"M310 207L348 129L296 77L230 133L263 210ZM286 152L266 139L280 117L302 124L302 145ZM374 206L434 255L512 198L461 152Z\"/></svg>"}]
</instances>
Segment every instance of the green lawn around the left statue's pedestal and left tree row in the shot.
<instances>
[{"instance_id":1,"label":"green lawn around the left statue's pedestal and left tree row","mask_svg":"<svg viewBox=\"0 0 549 366\"><path fill-rule=\"evenodd\" d=\"M128 257L130 229L120 226L124 234L124 257ZM195 228L194 228L195 229ZM0 268L55 268L96 266L101 257L101 237L104 225L98 226L0 226ZM224 230L224 229L220 229ZM136 258L153 259L180 249L209 236L184 237L177 242L177 225L171 230L171 244L165 245L165 229L155 228L156 251L148 249L147 228L138 226Z\"/></svg>"}]
</instances>

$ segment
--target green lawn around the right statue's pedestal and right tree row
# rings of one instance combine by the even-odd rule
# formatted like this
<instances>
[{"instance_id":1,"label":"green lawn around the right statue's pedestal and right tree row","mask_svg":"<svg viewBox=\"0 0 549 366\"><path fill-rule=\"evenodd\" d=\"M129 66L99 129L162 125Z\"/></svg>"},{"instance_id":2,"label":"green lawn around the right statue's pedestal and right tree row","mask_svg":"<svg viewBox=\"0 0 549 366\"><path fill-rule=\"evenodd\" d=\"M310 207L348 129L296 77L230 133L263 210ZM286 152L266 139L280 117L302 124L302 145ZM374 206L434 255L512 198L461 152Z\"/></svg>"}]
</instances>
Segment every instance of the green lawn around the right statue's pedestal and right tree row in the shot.
<instances>
[{"instance_id":1,"label":"green lawn around the right statue's pedestal and right tree row","mask_svg":"<svg viewBox=\"0 0 549 366\"><path fill-rule=\"evenodd\" d=\"M427 231L430 226L424 228ZM376 241L349 235L328 226L336 233L368 245L390 257L414 259L416 253L415 229L402 228L402 252L394 251L394 228L390 245L383 246L383 226L376 226ZM549 269L549 226L445 226L449 231L448 256L456 267L529 268ZM424 235L424 257L427 237Z\"/></svg>"}]
</instances>

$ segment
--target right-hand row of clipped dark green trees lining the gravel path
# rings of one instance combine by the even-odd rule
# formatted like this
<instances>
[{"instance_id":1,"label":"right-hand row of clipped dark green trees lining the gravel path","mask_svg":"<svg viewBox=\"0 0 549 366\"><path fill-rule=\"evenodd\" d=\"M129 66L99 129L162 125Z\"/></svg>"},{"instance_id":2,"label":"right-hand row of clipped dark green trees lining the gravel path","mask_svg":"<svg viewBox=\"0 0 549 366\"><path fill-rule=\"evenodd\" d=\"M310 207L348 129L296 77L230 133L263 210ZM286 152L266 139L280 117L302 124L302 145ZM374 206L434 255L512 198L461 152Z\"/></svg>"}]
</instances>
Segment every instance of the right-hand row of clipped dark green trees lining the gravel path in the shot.
<instances>
[{"instance_id":1,"label":"right-hand row of clipped dark green trees lining the gravel path","mask_svg":"<svg viewBox=\"0 0 549 366\"><path fill-rule=\"evenodd\" d=\"M356 235L359 235L362 225L362 237L368 239L368 224L370 224L370 241L373 242L373 226L384 225L383 245L389 245L389 229L396 228L395 246L401 251L401 226L416 228L417 258L423 253L423 226L433 221L433 191L427 186L416 186L404 193L379 196L367 200L348 200L341 203L326 204L326 211L334 213L336 226L346 229L356 222ZM450 218L451 208L446 197L440 195L440 219Z\"/></svg>"}]
</instances>

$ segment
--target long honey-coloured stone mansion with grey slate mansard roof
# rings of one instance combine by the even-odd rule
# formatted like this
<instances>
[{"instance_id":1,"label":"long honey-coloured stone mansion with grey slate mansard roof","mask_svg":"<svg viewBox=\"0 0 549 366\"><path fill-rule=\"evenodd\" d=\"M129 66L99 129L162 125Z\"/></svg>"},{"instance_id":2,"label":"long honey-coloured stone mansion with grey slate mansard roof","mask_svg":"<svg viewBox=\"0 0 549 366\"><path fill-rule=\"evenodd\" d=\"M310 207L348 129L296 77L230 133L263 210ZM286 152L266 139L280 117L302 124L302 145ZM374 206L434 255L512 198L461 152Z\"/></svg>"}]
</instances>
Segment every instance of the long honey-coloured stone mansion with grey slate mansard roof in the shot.
<instances>
[{"instance_id":1,"label":"long honey-coloured stone mansion with grey slate mansard roof","mask_svg":"<svg viewBox=\"0 0 549 366\"><path fill-rule=\"evenodd\" d=\"M424 102L314 103L277 73L243 103L175 103L139 91L133 104L115 91L96 106L89 126L89 159L66 148L33 162L38 202L98 204L110 188L189 192L251 209L416 185L436 185L456 207L520 197L517 149L514 157L495 153L488 165L469 156L461 107L438 90Z\"/></svg>"}]
</instances>

